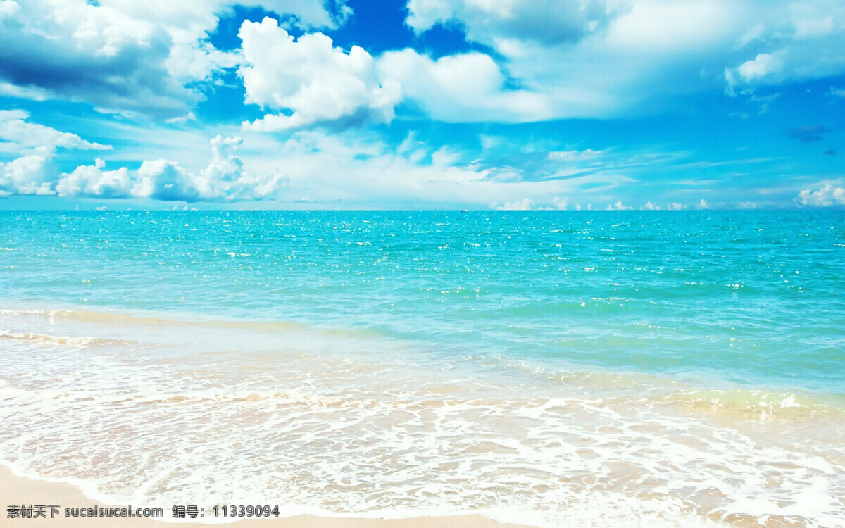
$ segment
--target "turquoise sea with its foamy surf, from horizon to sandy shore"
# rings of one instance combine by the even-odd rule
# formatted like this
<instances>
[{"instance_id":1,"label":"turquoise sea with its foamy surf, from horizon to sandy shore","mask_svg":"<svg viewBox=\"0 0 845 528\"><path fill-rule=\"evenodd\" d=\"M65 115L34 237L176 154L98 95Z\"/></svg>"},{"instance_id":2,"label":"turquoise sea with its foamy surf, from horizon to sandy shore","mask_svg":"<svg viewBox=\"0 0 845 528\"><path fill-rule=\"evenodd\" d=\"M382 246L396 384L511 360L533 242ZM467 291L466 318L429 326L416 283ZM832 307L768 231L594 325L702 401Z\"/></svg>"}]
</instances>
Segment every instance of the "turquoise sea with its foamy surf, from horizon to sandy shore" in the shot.
<instances>
[{"instance_id":1,"label":"turquoise sea with its foamy surf, from horizon to sandy shore","mask_svg":"<svg viewBox=\"0 0 845 528\"><path fill-rule=\"evenodd\" d=\"M845 525L842 211L0 212L0 357L107 504Z\"/></svg>"}]
</instances>

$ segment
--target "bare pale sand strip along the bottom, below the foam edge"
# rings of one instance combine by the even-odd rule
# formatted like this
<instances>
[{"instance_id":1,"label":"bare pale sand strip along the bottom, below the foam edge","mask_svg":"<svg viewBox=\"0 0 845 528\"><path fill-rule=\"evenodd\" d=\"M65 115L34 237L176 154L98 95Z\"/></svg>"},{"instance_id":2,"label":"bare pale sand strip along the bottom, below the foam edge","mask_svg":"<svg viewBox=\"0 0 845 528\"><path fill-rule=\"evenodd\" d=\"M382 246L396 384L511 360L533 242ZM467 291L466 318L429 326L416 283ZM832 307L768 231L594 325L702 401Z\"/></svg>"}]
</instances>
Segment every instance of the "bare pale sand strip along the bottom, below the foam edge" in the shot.
<instances>
[{"instance_id":1,"label":"bare pale sand strip along the bottom, below the foam edge","mask_svg":"<svg viewBox=\"0 0 845 528\"><path fill-rule=\"evenodd\" d=\"M172 520L170 509L165 509L164 520L144 519L138 517L65 517L65 508L96 508L104 504L92 500L82 493L79 487L71 484L39 481L25 476L17 476L6 466L0 465L0 498L3 508L11 505L58 505L60 509L54 519L50 518L51 510L46 509L46 519L9 519L8 510L3 512L4 526L52 526L53 528L85 528L88 526L151 526L161 527L173 525L165 522ZM149 505L152 507L153 505ZM134 508L139 506L133 505ZM159 505L155 505L159 507ZM190 520L189 520L190 521ZM185 523L180 523L185 524ZM208 524L204 522L189 522L191 526L221 526L220 523ZM293 517L270 519L238 520L238 526L244 528L518 528L518 525L499 524L481 515L450 515L444 517L414 517L410 519L344 519L317 517L313 515L296 515ZM232 525L230 524L230 525Z\"/></svg>"}]
</instances>

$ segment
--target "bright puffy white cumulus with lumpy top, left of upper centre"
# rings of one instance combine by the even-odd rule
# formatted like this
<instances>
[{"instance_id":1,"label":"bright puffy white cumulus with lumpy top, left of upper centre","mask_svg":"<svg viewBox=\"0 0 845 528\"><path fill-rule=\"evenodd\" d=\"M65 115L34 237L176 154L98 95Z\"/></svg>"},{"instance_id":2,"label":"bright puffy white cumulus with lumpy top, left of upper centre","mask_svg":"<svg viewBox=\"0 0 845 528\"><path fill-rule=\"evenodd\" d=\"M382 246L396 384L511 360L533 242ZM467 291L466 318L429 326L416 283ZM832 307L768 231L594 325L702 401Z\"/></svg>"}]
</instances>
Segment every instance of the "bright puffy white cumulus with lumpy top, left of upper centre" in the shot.
<instances>
[{"instance_id":1,"label":"bright puffy white cumulus with lumpy top, left of upper centre","mask_svg":"<svg viewBox=\"0 0 845 528\"><path fill-rule=\"evenodd\" d=\"M401 100L394 79L379 80L373 57L360 46L348 53L322 33L294 39L278 21L244 21L238 33L244 64L238 69L246 101L282 111L244 128L275 131L320 122L390 122Z\"/></svg>"}]
</instances>

